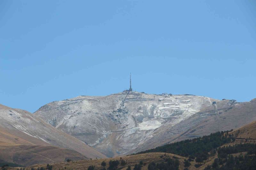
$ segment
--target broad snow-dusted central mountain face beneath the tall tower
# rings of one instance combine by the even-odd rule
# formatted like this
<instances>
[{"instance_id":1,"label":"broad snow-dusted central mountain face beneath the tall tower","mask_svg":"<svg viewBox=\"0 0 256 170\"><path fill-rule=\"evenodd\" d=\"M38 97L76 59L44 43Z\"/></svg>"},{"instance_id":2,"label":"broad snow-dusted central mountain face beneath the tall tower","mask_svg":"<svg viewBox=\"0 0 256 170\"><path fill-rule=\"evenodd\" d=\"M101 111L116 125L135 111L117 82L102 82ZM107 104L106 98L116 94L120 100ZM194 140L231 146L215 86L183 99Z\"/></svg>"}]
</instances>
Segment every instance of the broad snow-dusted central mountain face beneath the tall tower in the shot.
<instances>
[{"instance_id":1,"label":"broad snow-dusted central mountain face beneath the tall tower","mask_svg":"<svg viewBox=\"0 0 256 170\"><path fill-rule=\"evenodd\" d=\"M51 102L35 115L113 157L150 149L166 134L183 132L186 128L182 122L214 101L219 100L194 95L121 92ZM195 119L193 123L198 121ZM192 124L186 126L190 128Z\"/></svg>"}]
</instances>

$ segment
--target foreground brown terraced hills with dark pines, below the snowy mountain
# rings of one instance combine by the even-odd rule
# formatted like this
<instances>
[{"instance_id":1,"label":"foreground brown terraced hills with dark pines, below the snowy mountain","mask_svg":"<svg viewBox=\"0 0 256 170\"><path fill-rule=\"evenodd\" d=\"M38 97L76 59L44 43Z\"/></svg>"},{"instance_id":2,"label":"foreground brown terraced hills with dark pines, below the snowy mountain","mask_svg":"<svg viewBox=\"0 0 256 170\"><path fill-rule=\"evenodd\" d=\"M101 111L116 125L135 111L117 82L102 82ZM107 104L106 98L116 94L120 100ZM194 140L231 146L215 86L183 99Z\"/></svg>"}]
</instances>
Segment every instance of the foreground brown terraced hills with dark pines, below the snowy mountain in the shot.
<instances>
[{"instance_id":1,"label":"foreground brown terraced hills with dark pines, below the snowy mountain","mask_svg":"<svg viewBox=\"0 0 256 170\"><path fill-rule=\"evenodd\" d=\"M221 133L217 132L193 140L186 140L167 144L148 151L144 151L142 153L123 156L121 158L119 156L107 159L78 160L72 163L61 162L51 165L52 169L54 170L77 168L87 169L89 166L95 166L95 169L101 169L102 161L106 163L106 168L108 168L110 166L109 161L116 160L119 161L119 163L121 163L122 161L125 162L123 165L118 165L118 168L120 169L126 169L128 168L128 166L131 166L131 168L133 168L134 166L136 166L136 164L140 164L142 166L141 169L148 169L148 166L150 164L159 164L159 167L163 168L164 166L166 166L164 163L168 162L169 164L171 163L169 162L170 159L172 159L179 161L179 169L184 169L185 167L187 167L188 169L198 170L204 170L206 167L206 169L214 169L211 167L216 167L216 164L220 164L222 169L234 169L234 167L236 167L236 169L253 169L253 167L255 167L254 160L256 159L256 157L255 154L252 153L255 153L256 147L255 141L251 140L252 137L255 137L255 129L256 121L233 131L225 131ZM227 135L227 133L229 135ZM247 142L240 144L240 135L244 138L247 138ZM228 147L228 149L225 149L225 147ZM245 154L248 155L244 156ZM231 157L229 157L228 155L233 155L234 157L239 156L239 161L233 161L232 164L228 164L229 159L231 160ZM244 156L244 158L242 159L241 156ZM201 157L203 159L201 163L197 161L199 160L197 159L198 157ZM233 160L238 159L234 157ZM217 160L219 161L216 162L216 158L218 158ZM213 162L215 162L215 164L213 164ZM32 167L34 169L40 167L46 168L47 165L32 165L26 168L31 169ZM175 168L172 167L170 169Z\"/></svg>"}]
</instances>

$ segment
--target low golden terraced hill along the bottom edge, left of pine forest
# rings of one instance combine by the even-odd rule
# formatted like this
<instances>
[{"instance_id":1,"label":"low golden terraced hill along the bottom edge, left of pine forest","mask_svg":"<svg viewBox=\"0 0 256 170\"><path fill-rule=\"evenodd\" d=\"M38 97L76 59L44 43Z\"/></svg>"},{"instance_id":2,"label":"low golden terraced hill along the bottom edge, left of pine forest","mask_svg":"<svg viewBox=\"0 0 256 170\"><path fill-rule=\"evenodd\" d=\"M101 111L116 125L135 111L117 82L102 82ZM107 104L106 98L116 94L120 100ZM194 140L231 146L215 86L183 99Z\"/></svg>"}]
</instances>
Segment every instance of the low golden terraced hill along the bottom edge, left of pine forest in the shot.
<instances>
[{"instance_id":1,"label":"low golden terraced hill along the bottom edge, left of pine forest","mask_svg":"<svg viewBox=\"0 0 256 170\"><path fill-rule=\"evenodd\" d=\"M160 156L163 155L163 158L160 158ZM127 164L122 167L121 165L118 166L118 168L122 168L122 169L126 169L127 166L134 166L135 164L138 164L140 161L143 161L143 163L145 163L145 165L143 166L142 169L147 169L148 168L148 164L150 162L158 162L161 160L164 160L166 157L170 157L170 158L177 158L180 161L180 169L184 169L184 159L185 157L179 156L179 155L175 155L175 154L171 154L171 153L161 153L161 152L155 152L155 153L143 153L143 154L138 154L138 155L130 155L130 156L124 156L124 157L116 157L116 158L107 158L107 159L92 159L92 160L78 160L78 161L73 161L73 162L61 162L61 163L56 163L56 164L50 164L53 166L53 170L59 170L59 169L81 169L81 170L87 170L87 168L89 166L95 166L95 169L100 169L101 168L101 162L105 161L107 163L107 167L108 162L110 160L121 160L121 158L123 160L125 160L127 162ZM28 169L31 169L31 167L34 167L35 169L37 167L46 167L46 164L42 164L42 165L33 165L33 166L29 166L27 167Z\"/></svg>"}]
</instances>

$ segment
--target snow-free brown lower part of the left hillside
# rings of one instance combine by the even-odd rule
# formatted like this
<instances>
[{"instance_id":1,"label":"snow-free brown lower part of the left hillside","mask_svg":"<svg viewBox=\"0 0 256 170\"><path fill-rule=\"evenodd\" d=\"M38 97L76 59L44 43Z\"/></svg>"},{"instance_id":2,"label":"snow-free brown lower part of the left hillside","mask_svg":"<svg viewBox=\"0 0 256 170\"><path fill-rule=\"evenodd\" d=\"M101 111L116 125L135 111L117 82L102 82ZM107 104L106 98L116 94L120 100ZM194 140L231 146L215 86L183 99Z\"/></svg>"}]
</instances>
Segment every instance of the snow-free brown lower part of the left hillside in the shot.
<instances>
[{"instance_id":1,"label":"snow-free brown lower part of the left hillside","mask_svg":"<svg viewBox=\"0 0 256 170\"><path fill-rule=\"evenodd\" d=\"M25 133L20 132L19 136L14 134L15 131L11 134L5 128L0 127L0 163L28 166L38 163L63 162L67 159L87 159L76 151L54 147Z\"/></svg>"}]
</instances>

